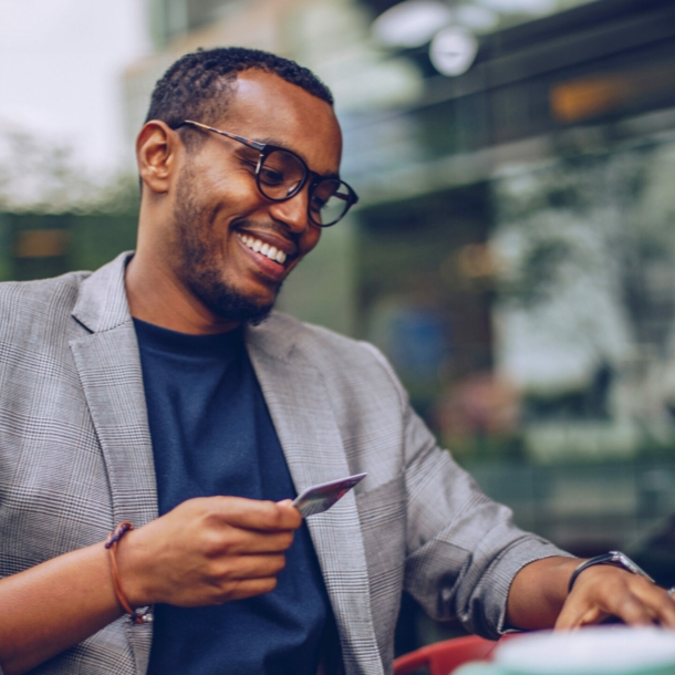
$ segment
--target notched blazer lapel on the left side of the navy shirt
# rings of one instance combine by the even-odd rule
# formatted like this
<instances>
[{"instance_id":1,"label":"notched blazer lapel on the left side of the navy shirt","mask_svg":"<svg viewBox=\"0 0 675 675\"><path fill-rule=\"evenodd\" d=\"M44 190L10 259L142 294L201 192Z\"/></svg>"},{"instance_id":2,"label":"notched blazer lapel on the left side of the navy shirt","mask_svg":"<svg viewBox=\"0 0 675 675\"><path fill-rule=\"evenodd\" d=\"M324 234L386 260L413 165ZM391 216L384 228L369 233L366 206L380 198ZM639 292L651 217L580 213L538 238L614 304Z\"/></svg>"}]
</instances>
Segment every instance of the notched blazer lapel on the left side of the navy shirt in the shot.
<instances>
[{"instance_id":1,"label":"notched blazer lapel on the left side of the navy shirt","mask_svg":"<svg viewBox=\"0 0 675 675\"><path fill-rule=\"evenodd\" d=\"M125 263L121 256L82 283L73 316L93 332L72 340L71 350L107 469L111 525L131 520L139 527L157 517L157 489ZM127 622L126 632L137 672L145 673L152 624Z\"/></svg>"}]
</instances>

